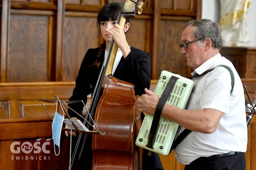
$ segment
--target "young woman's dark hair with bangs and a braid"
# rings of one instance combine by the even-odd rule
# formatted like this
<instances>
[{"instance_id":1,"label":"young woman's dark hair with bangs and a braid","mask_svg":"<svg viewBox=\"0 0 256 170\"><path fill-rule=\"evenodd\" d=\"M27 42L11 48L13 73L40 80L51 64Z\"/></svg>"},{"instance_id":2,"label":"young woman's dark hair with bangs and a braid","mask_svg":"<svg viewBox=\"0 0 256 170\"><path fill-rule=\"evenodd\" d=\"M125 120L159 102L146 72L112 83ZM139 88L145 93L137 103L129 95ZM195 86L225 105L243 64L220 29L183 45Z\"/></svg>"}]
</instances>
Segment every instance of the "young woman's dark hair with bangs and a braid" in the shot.
<instances>
[{"instance_id":1,"label":"young woman's dark hair with bangs and a braid","mask_svg":"<svg viewBox=\"0 0 256 170\"><path fill-rule=\"evenodd\" d=\"M123 9L123 5L118 3L118 2L113 2L113 3L108 3L106 5L104 5L97 16L97 23L98 23L98 27L100 28L100 21L109 21L109 20L118 20L119 14ZM127 18L125 23L130 22L130 19ZM106 48L106 44L101 44L99 51L97 53L97 59L96 61L91 64L89 67L94 69L94 68L98 68L100 66L100 55L102 53L102 51Z\"/></svg>"}]
</instances>

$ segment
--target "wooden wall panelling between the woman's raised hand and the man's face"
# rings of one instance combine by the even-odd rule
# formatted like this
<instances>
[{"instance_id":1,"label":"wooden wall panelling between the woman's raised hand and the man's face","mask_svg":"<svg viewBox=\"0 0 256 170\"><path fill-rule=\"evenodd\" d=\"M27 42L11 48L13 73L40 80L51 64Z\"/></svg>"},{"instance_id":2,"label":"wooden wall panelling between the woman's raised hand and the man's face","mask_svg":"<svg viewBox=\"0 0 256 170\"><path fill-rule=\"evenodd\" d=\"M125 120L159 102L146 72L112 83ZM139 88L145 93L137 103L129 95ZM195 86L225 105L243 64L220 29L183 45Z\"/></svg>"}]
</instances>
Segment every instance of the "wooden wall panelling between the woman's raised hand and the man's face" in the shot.
<instances>
[{"instance_id":1,"label":"wooden wall panelling between the woman's raised hand and the man's face","mask_svg":"<svg viewBox=\"0 0 256 170\"><path fill-rule=\"evenodd\" d=\"M200 18L201 2L196 0L162 0L154 3L154 32L152 79L157 79L162 70L184 77L190 75L179 44L184 24ZM156 42L156 43L155 43ZM157 46L156 46L157 45Z\"/></svg>"}]
</instances>

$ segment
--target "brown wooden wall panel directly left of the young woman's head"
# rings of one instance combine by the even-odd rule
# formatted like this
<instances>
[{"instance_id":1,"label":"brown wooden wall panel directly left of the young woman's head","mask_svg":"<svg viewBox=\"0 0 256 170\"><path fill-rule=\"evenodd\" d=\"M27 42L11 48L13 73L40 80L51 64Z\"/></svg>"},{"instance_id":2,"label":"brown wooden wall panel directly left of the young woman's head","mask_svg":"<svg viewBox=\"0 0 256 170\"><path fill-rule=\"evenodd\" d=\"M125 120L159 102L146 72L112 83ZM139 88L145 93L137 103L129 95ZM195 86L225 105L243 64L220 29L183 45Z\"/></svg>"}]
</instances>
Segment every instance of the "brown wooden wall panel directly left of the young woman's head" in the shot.
<instances>
[{"instance_id":1,"label":"brown wooden wall panel directly left of the young woman's head","mask_svg":"<svg viewBox=\"0 0 256 170\"><path fill-rule=\"evenodd\" d=\"M66 16L63 36L63 81L74 81L85 52L99 46L97 16Z\"/></svg>"}]
</instances>

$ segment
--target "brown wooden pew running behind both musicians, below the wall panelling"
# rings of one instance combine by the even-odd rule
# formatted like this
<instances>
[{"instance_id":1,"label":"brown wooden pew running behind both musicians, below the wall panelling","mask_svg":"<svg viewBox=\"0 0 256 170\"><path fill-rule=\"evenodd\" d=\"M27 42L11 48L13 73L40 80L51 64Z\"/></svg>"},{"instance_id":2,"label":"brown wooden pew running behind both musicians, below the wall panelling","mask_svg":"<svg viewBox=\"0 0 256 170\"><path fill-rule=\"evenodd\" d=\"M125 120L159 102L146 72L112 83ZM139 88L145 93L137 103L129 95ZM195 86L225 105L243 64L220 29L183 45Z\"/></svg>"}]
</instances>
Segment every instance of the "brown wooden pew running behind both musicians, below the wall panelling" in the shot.
<instances>
[{"instance_id":1,"label":"brown wooden pew running behind both musicians, below the wall panelling","mask_svg":"<svg viewBox=\"0 0 256 170\"><path fill-rule=\"evenodd\" d=\"M151 82L152 91L156 82L157 80ZM242 79L242 82L246 85L251 99L254 100L256 79ZM74 82L0 83L1 169L68 169L70 139L62 133L60 154L56 156L53 140L50 140L52 119L38 100L55 100L56 95L60 100L66 101L72 95L74 86ZM246 95L245 98L247 99ZM44 103L44 106L51 116L54 116L56 105ZM248 126L246 170L256 169L253 159L256 155L255 123L256 119L253 118ZM19 144L12 147L14 142ZM36 142L40 143L38 147L33 146ZM29 147L30 143L32 144L30 150L25 151L25 146ZM47 144L46 147L44 147L45 144ZM41 148L39 153L37 153L38 148ZM16 153L19 149L20 152ZM184 169L184 165L177 163L173 152L168 156L160 155L160 158L165 169Z\"/></svg>"}]
</instances>

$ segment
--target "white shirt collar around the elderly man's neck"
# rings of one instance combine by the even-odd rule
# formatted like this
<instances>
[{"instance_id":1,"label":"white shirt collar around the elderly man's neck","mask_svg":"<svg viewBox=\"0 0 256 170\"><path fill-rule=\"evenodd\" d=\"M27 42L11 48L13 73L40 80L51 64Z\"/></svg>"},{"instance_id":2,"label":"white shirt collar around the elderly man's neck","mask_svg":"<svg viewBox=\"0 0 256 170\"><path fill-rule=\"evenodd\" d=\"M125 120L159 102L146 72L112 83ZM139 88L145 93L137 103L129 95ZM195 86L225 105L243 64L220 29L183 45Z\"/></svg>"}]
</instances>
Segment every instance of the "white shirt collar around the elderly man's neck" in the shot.
<instances>
[{"instance_id":1,"label":"white shirt collar around the elderly man's neck","mask_svg":"<svg viewBox=\"0 0 256 170\"><path fill-rule=\"evenodd\" d=\"M199 75L202 74L204 71L209 70L214 63L219 60L221 58L221 54L218 53L216 55L214 55L212 58L210 58L209 60L207 60L206 62L204 62L201 66L199 66L198 68L195 69L195 71L193 71L191 73L191 75L194 75L196 73L198 73Z\"/></svg>"}]
</instances>

